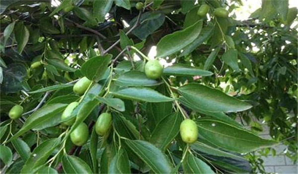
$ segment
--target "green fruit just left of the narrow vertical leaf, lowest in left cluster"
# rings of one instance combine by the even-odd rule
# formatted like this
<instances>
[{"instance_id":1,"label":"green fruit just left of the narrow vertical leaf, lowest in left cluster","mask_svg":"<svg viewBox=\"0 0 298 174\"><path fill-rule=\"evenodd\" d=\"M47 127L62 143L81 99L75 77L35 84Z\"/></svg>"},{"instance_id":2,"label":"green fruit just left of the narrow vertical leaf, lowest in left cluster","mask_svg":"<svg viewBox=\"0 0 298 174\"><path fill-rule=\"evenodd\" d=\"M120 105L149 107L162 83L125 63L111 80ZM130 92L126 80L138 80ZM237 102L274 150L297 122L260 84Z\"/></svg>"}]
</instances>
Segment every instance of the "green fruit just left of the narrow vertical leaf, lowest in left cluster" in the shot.
<instances>
[{"instance_id":1,"label":"green fruit just left of the narrow vertical leaf, lowest in left cluster","mask_svg":"<svg viewBox=\"0 0 298 174\"><path fill-rule=\"evenodd\" d=\"M85 123L81 123L71 133L71 140L76 146L82 146L87 142L88 134L88 126Z\"/></svg>"}]
</instances>

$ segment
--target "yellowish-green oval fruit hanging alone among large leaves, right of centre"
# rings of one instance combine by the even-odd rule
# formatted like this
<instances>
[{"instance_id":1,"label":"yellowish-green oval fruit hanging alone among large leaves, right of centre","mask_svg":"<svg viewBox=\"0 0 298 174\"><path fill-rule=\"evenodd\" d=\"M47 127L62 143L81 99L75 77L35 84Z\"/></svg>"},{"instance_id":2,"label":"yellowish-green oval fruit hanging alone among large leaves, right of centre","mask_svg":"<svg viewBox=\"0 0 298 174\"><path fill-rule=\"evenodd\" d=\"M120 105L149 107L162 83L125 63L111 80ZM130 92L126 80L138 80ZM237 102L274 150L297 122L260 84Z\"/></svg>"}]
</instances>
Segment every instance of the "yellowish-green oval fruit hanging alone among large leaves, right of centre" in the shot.
<instances>
[{"instance_id":1,"label":"yellowish-green oval fruit hanging alone among large leaves, right of centre","mask_svg":"<svg viewBox=\"0 0 298 174\"><path fill-rule=\"evenodd\" d=\"M183 120L180 124L180 135L185 143L194 143L198 139L198 127L197 124L191 120Z\"/></svg>"}]
</instances>

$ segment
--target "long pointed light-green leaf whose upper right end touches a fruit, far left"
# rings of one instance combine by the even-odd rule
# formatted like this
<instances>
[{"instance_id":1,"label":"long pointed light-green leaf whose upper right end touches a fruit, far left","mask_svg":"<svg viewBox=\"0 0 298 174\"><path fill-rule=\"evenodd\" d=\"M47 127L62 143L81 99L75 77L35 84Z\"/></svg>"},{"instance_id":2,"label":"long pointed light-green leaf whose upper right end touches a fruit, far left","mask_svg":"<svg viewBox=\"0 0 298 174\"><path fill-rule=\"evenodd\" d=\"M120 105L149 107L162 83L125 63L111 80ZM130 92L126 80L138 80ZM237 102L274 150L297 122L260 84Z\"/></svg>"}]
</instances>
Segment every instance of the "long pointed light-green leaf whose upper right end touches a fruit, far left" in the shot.
<instances>
[{"instance_id":1,"label":"long pointed light-green leaf whose upper right end touches a fruit, far left","mask_svg":"<svg viewBox=\"0 0 298 174\"><path fill-rule=\"evenodd\" d=\"M67 104L62 103L49 104L33 112L27 118L22 128L10 140L19 137L30 129L41 130L59 124L61 122L62 111L66 106Z\"/></svg>"}]
</instances>

